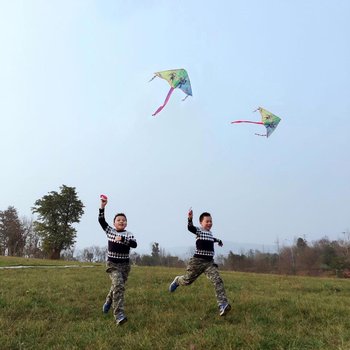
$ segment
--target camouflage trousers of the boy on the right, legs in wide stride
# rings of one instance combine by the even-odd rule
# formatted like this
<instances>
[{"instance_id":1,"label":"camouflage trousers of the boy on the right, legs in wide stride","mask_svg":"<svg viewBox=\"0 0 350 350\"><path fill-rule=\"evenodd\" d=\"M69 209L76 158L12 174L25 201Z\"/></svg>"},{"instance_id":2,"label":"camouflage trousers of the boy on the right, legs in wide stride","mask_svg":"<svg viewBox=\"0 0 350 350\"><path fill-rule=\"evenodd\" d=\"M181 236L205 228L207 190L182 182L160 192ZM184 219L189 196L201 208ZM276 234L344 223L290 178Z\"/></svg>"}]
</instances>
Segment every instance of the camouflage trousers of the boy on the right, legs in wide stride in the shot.
<instances>
[{"instance_id":1,"label":"camouflage trousers of the boy on the right, legs in wide stride","mask_svg":"<svg viewBox=\"0 0 350 350\"><path fill-rule=\"evenodd\" d=\"M191 258L187 269L187 273L183 276L176 277L176 282L180 286L188 286L192 284L202 273L213 283L215 288L216 300L218 305L227 303L224 282L222 281L218 267L213 260L205 260L201 258Z\"/></svg>"}]
</instances>

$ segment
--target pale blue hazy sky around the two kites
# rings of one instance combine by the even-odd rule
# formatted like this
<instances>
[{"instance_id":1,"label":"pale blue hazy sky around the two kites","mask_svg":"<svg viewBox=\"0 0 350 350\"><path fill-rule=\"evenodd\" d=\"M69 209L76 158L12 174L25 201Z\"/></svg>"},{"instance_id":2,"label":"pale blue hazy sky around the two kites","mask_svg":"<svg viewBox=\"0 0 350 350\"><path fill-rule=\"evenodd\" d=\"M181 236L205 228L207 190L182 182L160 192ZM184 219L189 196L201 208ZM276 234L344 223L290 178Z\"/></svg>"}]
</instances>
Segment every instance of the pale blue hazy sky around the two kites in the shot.
<instances>
[{"instance_id":1,"label":"pale blue hazy sky around the two kites","mask_svg":"<svg viewBox=\"0 0 350 350\"><path fill-rule=\"evenodd\" d=\"M350 229L350 1L0 0L0 210L61 185L77 249L125 212L139 249L191 246L187 210L225 242ZM185 68L193 97L154 72ZM268 139L262 106L282 121ZM195 220L197 224L197 219ZM219 248L217 248L219 249Z\"/></svg>"}]
</instances>

